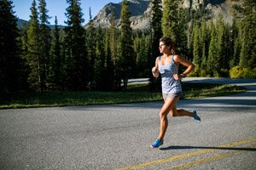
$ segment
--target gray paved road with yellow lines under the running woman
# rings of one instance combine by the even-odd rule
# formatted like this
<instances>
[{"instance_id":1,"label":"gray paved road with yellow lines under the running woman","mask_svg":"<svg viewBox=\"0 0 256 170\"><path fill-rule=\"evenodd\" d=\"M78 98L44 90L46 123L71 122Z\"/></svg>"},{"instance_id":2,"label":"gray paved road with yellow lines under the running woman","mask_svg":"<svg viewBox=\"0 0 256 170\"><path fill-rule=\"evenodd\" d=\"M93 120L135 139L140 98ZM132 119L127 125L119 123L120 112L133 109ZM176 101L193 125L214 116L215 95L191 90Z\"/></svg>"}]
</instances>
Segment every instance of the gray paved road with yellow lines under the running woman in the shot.
<instances>
[{"instance_id":1,"label":"gray paved road with yellow lines under the running woman","mask_svg":"<svg viewBox=\"0 0 256 170\"><path fill-rule=\"evenodd\" d=\"M162 102L0 110L0 169L256 169L256 80L185 80L248 90L181 100L202 122L170 116L160 149Z\"/></svg>"}]
</instances>

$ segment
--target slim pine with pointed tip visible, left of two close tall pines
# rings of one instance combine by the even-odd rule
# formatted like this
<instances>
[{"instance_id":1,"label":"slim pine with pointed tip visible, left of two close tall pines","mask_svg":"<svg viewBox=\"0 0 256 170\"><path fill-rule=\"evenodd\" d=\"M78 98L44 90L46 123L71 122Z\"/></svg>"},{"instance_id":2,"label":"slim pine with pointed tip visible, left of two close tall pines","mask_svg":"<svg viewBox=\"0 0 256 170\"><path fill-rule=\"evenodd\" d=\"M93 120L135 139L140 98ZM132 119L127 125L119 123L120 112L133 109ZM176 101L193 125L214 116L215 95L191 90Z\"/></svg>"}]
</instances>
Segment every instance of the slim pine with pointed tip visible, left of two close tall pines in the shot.
<instances>
[{"instance_id":1,"label":"slim pine with pointed tip visible, left of two close tall pines","mask_svg":"<svg viewBox=\"0 0 256 170\"><path fill-rule=\"evenodd\" d=\"M29 20L29 26L27 30L27 50L28 54L26 55L26 59L30 66L30 74L28 77L28 82L32 89L41 92L43 90L43 82L42 82L42 74L43 67L42 59L40 56L40 44L38 43L40 40L39 33L39 21L38 21L38 10L36 7L36 1L32 1L32 7Z\"/></svg>"}]
</instances>

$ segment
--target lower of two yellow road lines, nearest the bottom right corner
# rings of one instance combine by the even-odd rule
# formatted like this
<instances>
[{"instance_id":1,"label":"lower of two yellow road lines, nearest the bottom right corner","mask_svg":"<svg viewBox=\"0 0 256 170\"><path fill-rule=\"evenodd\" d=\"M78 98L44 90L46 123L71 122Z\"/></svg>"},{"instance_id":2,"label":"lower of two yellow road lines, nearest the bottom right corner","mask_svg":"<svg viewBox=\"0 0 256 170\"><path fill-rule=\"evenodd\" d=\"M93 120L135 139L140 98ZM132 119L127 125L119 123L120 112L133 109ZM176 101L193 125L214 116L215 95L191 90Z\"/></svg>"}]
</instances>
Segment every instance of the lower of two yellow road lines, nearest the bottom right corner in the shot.
<instances>
[{"instance_id":1,"label":"lower of two yellow road lines, nearest the bottom right corner","mask_svg":"<svg viewBox=\"0 0 256 170\"><path fill-rule=\"evenodd\" d=\"M249 148L256 148L256 144L254 145L250 145L248 146ZM228 152L225 152L225 153L222 153L222 154L218 154L216 156L211 156L211 157L207 157L207 158L204 158L204 159L200 159L200 160L196 160L196 161L189 161L189 162L186 162L186 163L183 163L181 165L178 165L176 167L170 167L170 168L166 168L165 170L181 170L181 169L188 169L190 167L196 167L200 164L203 164L203 163L207 163L207 162L210 162L210 161L218 161L220 159L224 159L226 157L229 157L229 156L234 156L234 155L238 155L238 154L241 154L243 152L245 152L246 150L235 150L235 151L228 151Z\"/></svg>"}]
</instances>

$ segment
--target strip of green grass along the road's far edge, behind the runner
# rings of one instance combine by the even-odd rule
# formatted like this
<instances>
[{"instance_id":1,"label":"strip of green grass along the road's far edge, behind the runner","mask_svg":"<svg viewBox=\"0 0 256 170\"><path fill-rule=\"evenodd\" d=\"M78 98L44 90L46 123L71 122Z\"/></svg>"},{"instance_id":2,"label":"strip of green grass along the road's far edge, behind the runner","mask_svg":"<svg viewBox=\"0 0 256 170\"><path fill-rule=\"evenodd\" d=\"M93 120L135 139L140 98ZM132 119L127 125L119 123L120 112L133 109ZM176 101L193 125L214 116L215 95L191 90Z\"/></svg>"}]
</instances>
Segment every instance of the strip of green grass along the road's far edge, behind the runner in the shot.
<instances>
[{"instance_id":1,"label":"strip of green grass along the road's far edge, behind the runner","mask_svg":"<svg viewBox=\"0 0 256 170\"><path fill-rule=\"evenodd\" d=\"M184 99L206 98L245 92L245 88L200 83L183 83ZM130 85L125 92L45 92L19 94L0 99L0 109L71 105L109 105L162 100L160 92L149 92L148 84Z\"/></svg>"}]
</instances>

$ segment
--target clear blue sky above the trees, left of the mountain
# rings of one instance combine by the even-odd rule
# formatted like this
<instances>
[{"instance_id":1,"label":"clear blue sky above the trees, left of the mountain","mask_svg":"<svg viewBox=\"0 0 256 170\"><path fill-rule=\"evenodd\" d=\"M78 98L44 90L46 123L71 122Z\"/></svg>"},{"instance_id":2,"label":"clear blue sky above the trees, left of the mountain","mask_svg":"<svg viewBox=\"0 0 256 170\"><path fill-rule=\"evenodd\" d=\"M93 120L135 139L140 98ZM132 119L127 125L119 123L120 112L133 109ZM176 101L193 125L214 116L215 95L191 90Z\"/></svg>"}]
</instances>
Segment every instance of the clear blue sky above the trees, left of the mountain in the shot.
<instances>
[{"instance_id":1,"label":"clear blue sky above the trees, left of the mountain","mask_svg":"<svg viewBox=\"0 0 256 170\"><path fill-rule=\"evenodd\" d=\"M32 0L11 0L13 2L13 10L15 15L22 20L29 20L31 15L30 8L32 7ZM108 3L120 3L122 0L80 0L82 13L84 14L84 25L89 21L89 8L92 18L99 13L99 11ZM38 0L36 0L38 7ZM51 25L55 25L55 16L58 19L58 25L66 26L64 21L67 21L65 13L68 7L67 0L45 0L46 8L48 9L48 15L51 17L49 22Z\"/></svg>"}]
</instances>

